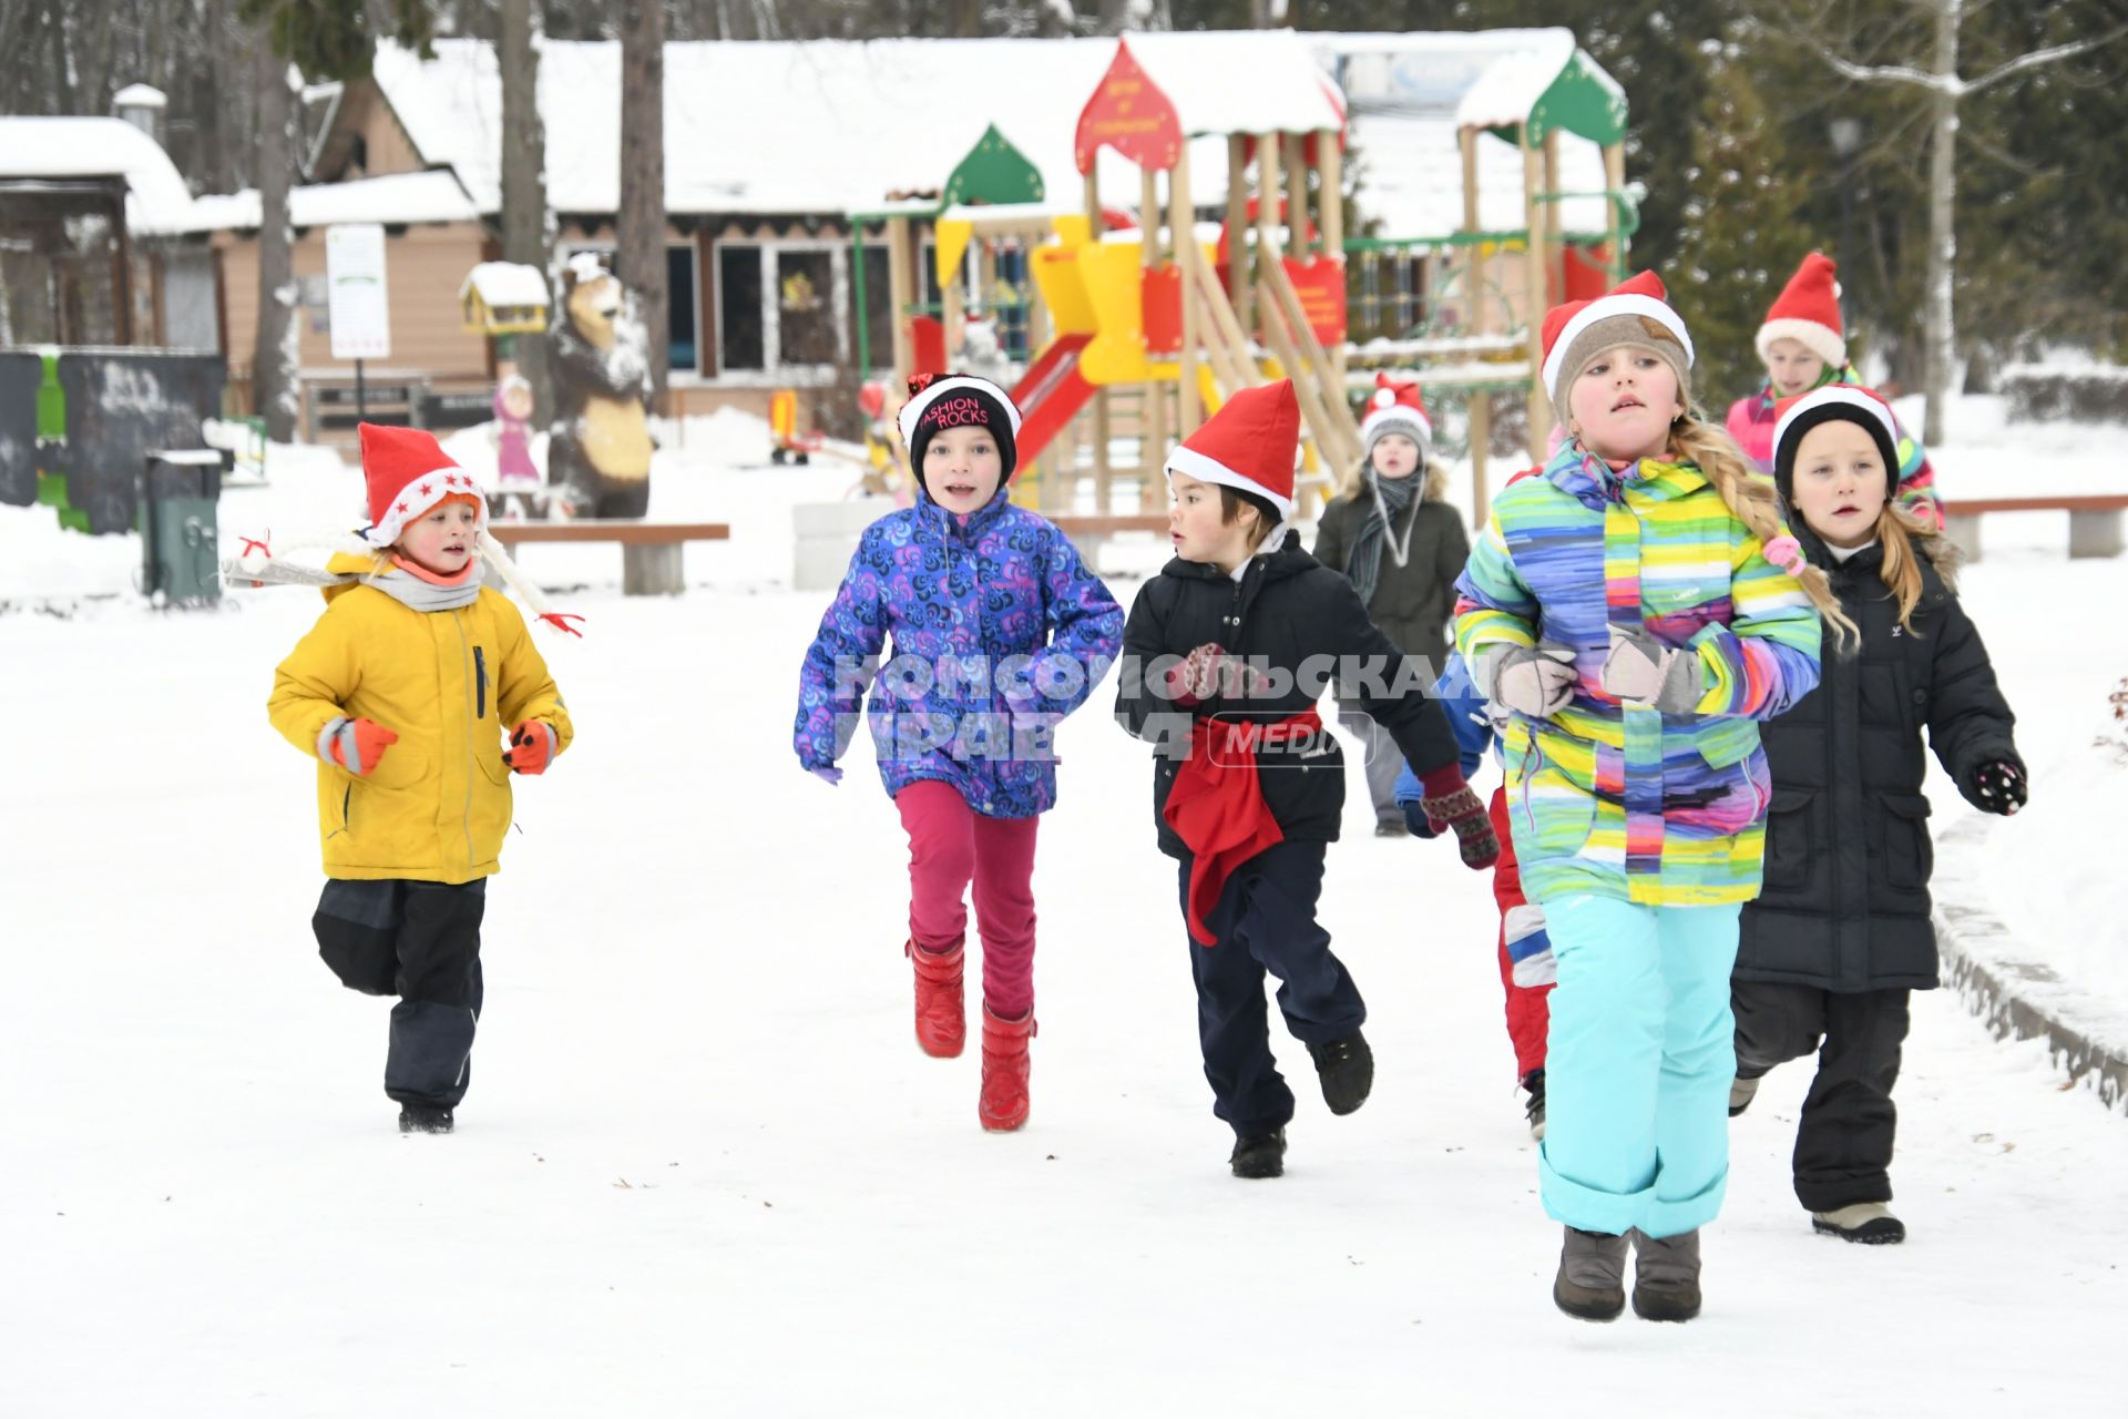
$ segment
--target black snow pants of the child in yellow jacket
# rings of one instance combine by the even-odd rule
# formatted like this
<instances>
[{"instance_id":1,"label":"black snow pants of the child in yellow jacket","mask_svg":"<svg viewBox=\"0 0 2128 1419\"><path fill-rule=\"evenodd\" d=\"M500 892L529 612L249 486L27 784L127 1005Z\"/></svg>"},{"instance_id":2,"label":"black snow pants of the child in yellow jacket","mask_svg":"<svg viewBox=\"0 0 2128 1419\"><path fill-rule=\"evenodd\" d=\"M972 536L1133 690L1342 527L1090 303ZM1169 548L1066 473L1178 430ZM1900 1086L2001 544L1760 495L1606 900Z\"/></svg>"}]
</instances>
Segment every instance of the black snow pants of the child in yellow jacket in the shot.
<instances>
[{"instance_id":1,"label":"black snow pants of the child in yellow jacket","mask_svg":"<svg viewBox=\"0 0 2128 1419\"><path fill-rule=\"evenodd\" d=\"M328 881L317 900L311 928L332 974L364 996L400 998L385 1053L385 1094L400 1104L455 1108L466 1098L485 906L487 879Z\"/></svg>"}]
</instances>

